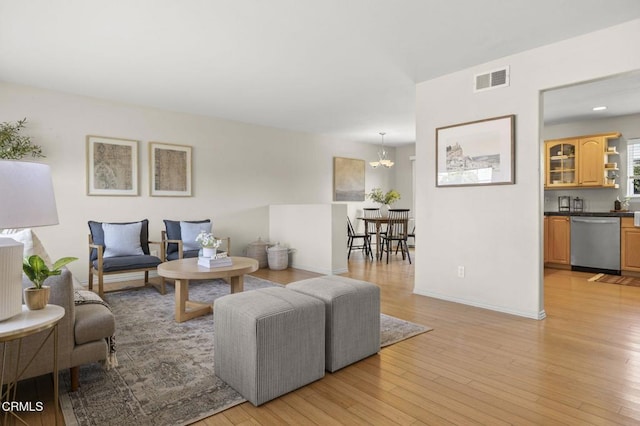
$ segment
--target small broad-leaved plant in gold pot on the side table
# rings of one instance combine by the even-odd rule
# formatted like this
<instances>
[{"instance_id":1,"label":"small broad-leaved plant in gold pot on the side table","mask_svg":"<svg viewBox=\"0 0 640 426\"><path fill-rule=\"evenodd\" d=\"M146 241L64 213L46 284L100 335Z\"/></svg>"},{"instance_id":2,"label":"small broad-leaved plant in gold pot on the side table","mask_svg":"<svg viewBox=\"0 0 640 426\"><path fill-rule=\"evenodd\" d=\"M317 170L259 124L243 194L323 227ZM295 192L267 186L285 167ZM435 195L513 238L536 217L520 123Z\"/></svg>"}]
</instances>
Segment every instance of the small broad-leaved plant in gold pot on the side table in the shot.
<instances>
[{"instance_id":1,"label":"small broad-leaved plant in gold pot on the side table","mask_svg":"<svg viewBox=\"0 0 640 426\"><path fill-rule=\"evenodd\" d=\"M30 310L35 311L47 306L50 288L44 285L44 282L51 276L60 275L63 266L77 259L77 257L63 257L58 259L49 269L37 254L24 258L22 270L33 283L32 287L24 289L24 303Z\"/></svg>"}]
</instances>

